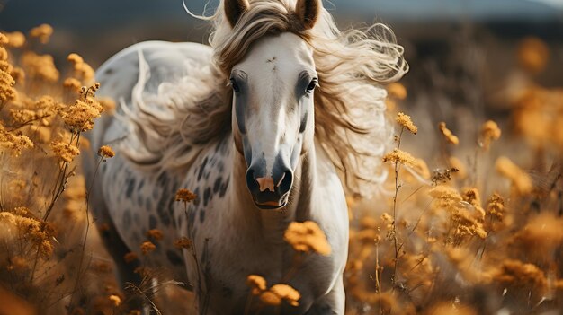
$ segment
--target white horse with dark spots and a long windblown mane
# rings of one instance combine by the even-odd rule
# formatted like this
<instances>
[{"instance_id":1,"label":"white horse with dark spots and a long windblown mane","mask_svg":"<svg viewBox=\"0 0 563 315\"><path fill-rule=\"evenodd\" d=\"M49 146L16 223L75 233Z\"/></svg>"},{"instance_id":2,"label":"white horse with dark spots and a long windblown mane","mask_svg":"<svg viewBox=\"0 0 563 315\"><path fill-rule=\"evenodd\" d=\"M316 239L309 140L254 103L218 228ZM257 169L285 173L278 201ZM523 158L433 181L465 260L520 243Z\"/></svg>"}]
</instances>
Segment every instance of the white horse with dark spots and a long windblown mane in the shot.
<instances>
[{"instance_id":1,"label":"white horse with dark spots and a long windblown mane","mask_svg":"<svg viewBox=\"0 0 563 315\"><path fill-rule=\"evenodd\" d=\"M287 281L299 306L281 312L343 314L340 178L363 194L385 176L391 132L380 84L407 71L402 48L381 25L338 31L320 0L224 0L210 19L210 47L139 43L97 71L98 95L121 106L97 122L91 147L109 144L117 155L94 178L95 150L84 153L85 174L95 179L94 216L109 226L102 235L121 282L137 279L123 255L139 253L158 229L164 239L144 263L203 294L200 311L242 314L246 276L285 281L295 252L283 232L311 220L332 253L307 255ZM178 188L198 196L187 211L174 202ZM197 262L174 248L182 237Z\"/></svg>"}]
</instances>

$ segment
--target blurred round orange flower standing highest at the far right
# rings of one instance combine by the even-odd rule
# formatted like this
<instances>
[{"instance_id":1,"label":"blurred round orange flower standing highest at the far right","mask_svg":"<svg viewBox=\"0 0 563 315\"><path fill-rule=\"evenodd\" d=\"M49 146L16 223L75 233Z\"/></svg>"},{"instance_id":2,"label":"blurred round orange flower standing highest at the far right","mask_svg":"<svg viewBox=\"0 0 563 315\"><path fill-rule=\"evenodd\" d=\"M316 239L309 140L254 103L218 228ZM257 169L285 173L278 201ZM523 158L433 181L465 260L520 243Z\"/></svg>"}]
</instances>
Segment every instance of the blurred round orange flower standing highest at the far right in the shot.
<instances>
[{"instance_id":1,"label":"blurred round orange flower standing highest at the far right","mask_svg":"<svg viewBox=\"0 0 563 315\"><path fill-rule=\"evenodd\" d=\"M529 37L523 39L518 47L518 63L524 70L536 74L548 63L550 49L541 39Z\"/></svg>"}]
</instances>

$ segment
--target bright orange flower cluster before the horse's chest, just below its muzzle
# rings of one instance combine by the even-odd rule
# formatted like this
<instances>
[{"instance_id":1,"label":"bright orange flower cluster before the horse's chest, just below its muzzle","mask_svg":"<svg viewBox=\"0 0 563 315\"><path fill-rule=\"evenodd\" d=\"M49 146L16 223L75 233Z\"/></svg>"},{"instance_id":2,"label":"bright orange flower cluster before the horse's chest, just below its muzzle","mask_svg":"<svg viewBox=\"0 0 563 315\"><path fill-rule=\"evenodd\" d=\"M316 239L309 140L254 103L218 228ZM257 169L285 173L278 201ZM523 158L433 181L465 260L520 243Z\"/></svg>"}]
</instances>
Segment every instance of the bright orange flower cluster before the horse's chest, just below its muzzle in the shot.
<instances>
[{"instance_id":1,"label":"bright orange flower cluster before the horse's chest, just below its muzzle","mask_svg":"<svg viewBox=\"0 0 563 315\"><path fill-rule=\"evenodd\" d=\"M315 251L324 256L330 255L331 249L326 241L325 232L313 221L290 223L283 234L283 239L297 251Z\"/></svg>"}]
</instances>

